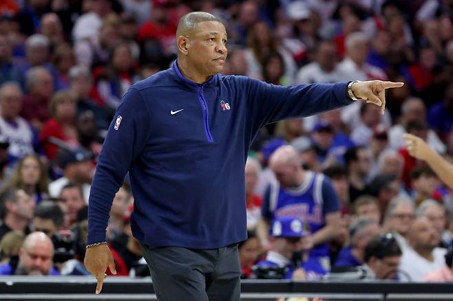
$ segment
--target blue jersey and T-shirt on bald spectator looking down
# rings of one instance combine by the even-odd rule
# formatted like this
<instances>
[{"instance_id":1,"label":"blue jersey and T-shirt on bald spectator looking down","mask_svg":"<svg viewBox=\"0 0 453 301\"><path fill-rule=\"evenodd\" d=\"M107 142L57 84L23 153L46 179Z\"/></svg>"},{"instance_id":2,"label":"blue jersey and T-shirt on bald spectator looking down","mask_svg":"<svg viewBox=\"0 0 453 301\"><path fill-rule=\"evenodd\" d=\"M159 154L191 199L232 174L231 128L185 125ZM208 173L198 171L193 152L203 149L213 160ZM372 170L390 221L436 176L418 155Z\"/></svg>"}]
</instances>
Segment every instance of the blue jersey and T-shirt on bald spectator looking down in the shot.
<instances>
[{"instance_id":1,"label":"blue jersey and T-shirt on bald spectator looking down","mask_svg":"<svg viewBox=\"0 0 453 301\"><path fill-rule=\"evenodd\" d=\"M326 225L325 216L339 211L339 201L330 179L323 174L305 172L304 183L296 188L281 188L271 183L264 194L262 216L268 221L275 217L293 216L310 226L315 233ZM328 256L327 243L310 250L310 257Z\"/></svg>"}]
</instances>

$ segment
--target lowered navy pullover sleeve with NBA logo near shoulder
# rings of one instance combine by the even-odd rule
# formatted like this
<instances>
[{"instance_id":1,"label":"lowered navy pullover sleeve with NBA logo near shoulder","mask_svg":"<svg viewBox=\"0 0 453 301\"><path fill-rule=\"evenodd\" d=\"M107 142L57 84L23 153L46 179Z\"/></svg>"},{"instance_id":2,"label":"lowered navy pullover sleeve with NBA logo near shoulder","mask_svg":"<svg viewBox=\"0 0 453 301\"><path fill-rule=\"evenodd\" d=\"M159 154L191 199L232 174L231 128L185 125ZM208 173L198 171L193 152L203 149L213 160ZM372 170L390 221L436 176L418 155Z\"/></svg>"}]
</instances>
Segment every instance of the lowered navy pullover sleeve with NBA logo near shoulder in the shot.
<instances>
[{"instance_id":1,"label":"lowered navy pullover sleeve with NBA logo near shoulder","mask_svg":"<svg viewBox=\"0 0 453 301\"><path fill-rule=\"evenodd\" d=\"M147 143L149 124L145 100L137 89L129 89L116 110L98 157L89 192L87 244L107 241L112 201L123 185L129 167Z\"/></svg>"}]
</instances>

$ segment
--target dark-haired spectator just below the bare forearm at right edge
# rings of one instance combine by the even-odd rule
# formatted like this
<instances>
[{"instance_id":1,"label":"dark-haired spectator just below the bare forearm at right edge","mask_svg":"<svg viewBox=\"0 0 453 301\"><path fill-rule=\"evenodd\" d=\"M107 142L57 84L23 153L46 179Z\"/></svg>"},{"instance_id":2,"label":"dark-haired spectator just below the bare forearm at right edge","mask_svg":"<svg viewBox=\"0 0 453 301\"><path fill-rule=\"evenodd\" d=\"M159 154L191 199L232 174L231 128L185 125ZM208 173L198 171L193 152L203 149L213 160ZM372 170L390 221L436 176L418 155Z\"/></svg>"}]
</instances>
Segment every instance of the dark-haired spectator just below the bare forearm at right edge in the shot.
<instances>
[{"instance_id":1,"label":"dark-haired spectator just below the bare forearm at right edge","mask_svg":"<svg viewBox=\"0 0 453 301\"><path fill-rule=\"evenodd\" d=\"M442 196L439 192L436 192L436 188L439 186L439 178L429 166L419 165L414 167L410 172L410 181L412 183L411 195L416 205L419 205L425 199L442 201Z\"/></svg>"}]
</instances>

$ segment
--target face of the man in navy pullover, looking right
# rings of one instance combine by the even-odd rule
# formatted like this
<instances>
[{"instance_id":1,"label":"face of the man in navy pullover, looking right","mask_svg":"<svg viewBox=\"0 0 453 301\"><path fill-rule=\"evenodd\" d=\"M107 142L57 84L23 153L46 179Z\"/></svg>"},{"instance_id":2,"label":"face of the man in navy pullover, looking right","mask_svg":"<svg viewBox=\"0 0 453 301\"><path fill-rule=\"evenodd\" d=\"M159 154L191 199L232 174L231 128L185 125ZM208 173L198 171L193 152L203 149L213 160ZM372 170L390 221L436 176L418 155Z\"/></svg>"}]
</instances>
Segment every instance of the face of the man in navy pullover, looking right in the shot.
<instances>
[{"instance_id":1,"label":"face of the man in navy pullover, looking right","mask_svg":"<svg viewBox=\"0 0 453 301\"><path fill-rule=\"evenodd\" d=\"M189 34L187 60L203 76L220 73L227 59L227 31L222 23L198 23Z\"/></svg>"}]
</instances>

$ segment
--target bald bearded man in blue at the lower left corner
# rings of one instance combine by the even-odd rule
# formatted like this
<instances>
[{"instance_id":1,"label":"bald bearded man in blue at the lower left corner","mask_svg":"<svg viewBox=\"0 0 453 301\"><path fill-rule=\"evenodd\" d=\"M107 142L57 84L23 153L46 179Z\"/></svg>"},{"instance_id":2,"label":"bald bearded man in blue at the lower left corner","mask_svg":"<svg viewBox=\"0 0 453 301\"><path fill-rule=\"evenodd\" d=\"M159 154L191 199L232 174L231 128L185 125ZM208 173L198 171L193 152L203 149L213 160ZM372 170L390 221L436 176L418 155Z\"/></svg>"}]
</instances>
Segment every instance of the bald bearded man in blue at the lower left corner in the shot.
<instances>
[{"instance_id":1,"label":"bald bearded man in blue at the lower left corner","mask_svg":"<svg viewBox=\"0 0 453 301\"><path fill-rule=\"evenodd\" d=\"M59 275L54 268L54 245L44 232L28 234L19 249L19 263L0 265L0 275Z\"/></svg>"}]
</instances>

